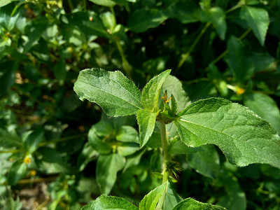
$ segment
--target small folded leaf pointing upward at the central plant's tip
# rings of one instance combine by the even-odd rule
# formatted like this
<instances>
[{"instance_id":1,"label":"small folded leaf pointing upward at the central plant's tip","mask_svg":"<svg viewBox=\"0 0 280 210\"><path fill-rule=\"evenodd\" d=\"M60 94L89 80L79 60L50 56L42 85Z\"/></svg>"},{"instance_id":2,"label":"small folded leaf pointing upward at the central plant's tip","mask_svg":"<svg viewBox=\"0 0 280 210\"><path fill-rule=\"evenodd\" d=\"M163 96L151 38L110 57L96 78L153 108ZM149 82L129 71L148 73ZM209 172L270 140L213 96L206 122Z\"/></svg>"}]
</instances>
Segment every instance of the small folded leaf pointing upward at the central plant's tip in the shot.
<instances>
[{"instance_id":1,"label":"small folded leaf pointing upward at the central plant's tip","mask_svg":"<svg viewBox=\"0 0 280 210\"><path fill-rule=\"evenodd\" d=\"M160 96L160 89L166 78L169 76L171 70L166 70L158 76L153 77L144 87L141 96L141 104L144 109L153 112L158 111L158 97Z\"/></svg>"}]
</instances>

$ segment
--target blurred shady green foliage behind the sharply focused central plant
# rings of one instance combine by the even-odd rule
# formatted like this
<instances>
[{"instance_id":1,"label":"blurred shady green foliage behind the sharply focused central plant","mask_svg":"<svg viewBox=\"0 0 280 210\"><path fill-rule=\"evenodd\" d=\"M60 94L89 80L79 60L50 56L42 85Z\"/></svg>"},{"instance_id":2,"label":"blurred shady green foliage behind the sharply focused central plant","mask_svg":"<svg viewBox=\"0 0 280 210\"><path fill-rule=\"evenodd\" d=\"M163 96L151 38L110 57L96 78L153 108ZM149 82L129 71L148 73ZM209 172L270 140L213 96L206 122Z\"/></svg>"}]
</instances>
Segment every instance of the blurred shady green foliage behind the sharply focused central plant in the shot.
<instances>
[{"instance_id":1,"label":"blurred shady green foliage behind the sharply focused central plant","mask_svg":"<svg viewBox=\"0 0 280 210\"><path fill-rule=\"evenodd\" d=\"M0 6L0 208L20 209L18 192L41 182L48 190L38 208L48 209L80 209L101 193L138 204L161 183L158 133L140 150L134 116L108 118L96 104L81 102L73 83L82 69L118 69L140 89L172 69L188 101L230 99L280 132L278 0L3 0ZM124 143L124 134L131 141ZM94 145L96 135L106 144ZM279 208L279 169L235 167L214 146L181 154L179 148L174 186L181 197L228 209ZM102 169L104 154L116 150L123 164L109 161Z\"/></svg>"}]
</instances>

